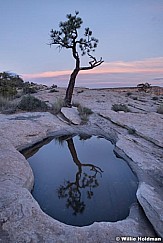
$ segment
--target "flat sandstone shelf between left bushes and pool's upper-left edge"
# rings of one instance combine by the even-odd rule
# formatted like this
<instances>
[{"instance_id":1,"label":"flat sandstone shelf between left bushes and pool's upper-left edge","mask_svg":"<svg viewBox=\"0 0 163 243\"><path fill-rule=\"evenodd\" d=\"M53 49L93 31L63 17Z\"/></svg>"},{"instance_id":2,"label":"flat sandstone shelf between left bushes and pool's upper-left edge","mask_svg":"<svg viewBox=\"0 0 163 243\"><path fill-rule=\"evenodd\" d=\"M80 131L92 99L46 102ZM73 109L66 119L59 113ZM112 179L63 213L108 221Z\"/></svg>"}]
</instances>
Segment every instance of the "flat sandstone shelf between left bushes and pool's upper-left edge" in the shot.
<instances>
[{"instance_id":1,"label":"flat sandstone shelf between left bushes and pool's upper-left edge","mask_svg":"<svg viewBox=\"0 0 163 243\"><path fill-rule=\"evenodd\" d=\"M49 136L50 132L66 128L49 112L27 112L13 115L0 114L0 136L21 150Z\"/></svg>"}]
</instances>

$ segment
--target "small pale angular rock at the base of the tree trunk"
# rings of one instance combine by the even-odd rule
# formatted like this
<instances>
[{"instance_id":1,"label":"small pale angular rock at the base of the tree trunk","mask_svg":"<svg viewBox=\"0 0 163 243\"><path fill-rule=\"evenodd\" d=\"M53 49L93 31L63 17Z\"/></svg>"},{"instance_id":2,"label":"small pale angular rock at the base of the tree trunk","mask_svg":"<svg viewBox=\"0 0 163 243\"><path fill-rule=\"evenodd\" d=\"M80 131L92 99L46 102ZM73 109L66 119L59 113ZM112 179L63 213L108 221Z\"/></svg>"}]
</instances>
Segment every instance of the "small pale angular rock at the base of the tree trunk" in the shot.
<instances>
[{"instance_id":1,"label":"small pale angular rock at the base of the tree trunk","mask_svg":"<svg viewBox=\"0 0 163 243\"><path fill-rule=\"evenodd\" d=\"M73 124L79 125L81 123L79 112L76 107L71 107L71 108L62 107L61 112Z\"/></svg>"}]
</instances>

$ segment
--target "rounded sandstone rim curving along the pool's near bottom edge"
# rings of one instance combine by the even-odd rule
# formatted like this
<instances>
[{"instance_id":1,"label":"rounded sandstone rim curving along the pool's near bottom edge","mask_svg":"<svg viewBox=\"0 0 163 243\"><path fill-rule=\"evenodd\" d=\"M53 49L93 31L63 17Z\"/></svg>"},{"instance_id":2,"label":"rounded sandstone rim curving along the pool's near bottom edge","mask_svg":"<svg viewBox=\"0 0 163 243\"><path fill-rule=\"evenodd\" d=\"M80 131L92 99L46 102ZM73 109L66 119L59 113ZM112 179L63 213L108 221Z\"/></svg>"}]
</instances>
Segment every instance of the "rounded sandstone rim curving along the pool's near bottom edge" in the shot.
<instances>
[{"instance_id":1,"label":"rounded sandstone rim curving along the pool's near bottom edge","mask_svg":"<svg viewBox=\"0 0 163 243\"><path fill-rule=\"evenodd\" d=\"M130 216L123 221L75 227L60 223L43 213L30 192L10 180L2 183L0 196L2 231L11 243L108 243L115 242L117 236L155 235L138 205L132 207Z\"/></svg>"}]
</instances>

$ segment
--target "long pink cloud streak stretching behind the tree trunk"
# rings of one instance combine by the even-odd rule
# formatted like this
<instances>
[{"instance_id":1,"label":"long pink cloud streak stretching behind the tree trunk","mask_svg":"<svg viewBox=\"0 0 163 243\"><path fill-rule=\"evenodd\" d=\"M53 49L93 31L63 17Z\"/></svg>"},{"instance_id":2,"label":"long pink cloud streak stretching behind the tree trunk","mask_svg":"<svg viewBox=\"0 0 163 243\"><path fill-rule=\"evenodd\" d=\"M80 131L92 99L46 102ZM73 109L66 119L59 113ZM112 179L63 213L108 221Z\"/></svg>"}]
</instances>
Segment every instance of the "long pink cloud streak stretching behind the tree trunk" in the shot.
<instances>
[{"instance_id":1,"label":"long pink cloud streak stretching behind the tree trunk","mask_svg":"<svg viewBox=\"0 0 163 243\"><path fill-rule=\"evenodd\" d=\"M34 74L23 74L24 79L55 78L70 75L72 70L47 71ZM121 73L155 73L163 74L163 57L147 58L140 61L106 62L101 66L80 72L82 74L121 74Z\"/></svg>"}]
</instances>

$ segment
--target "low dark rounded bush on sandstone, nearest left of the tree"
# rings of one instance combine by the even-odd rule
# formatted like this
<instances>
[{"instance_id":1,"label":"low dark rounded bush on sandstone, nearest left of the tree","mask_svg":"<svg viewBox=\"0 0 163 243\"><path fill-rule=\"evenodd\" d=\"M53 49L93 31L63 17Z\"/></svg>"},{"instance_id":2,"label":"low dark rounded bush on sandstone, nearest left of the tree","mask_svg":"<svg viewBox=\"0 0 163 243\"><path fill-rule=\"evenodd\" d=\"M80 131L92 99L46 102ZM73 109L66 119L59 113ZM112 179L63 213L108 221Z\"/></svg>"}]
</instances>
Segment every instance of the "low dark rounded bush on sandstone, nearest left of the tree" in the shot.
<instances>
[{"instance_id":1,"label":"low dark rounded bush on sandstone, nearest left of the tree","mask_svg":"<svg viewBox=\"0 0 163 243\"><path fill-rule=\"evenodd\" d=\"M18 104L18 108L23 111L47 111L48 106L44 101L28 95L22 98Z\"/></svg>"}]
</instances>

